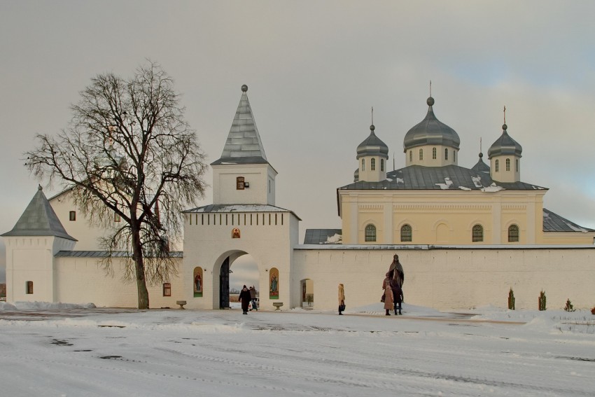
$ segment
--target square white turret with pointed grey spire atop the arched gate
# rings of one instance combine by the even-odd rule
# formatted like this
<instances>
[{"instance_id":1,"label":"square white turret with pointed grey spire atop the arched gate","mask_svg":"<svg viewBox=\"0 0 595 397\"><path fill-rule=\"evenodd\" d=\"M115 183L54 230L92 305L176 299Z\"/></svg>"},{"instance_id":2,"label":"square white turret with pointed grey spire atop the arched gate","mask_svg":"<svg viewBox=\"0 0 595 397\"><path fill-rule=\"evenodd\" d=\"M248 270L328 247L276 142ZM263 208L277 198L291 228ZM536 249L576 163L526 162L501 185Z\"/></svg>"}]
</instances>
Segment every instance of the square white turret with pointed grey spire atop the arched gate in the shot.
<instances>
[{"instance_id":1,"label":"square white turret with pointed grey spire atop the arched gate","mask_svg":"<svg viewBox=\"0 0 595 397\"><path fill-rule=\"evenodd\" d=\"M267 161L246 92L244 84L221 158L211 163L213 204L275 204L277 172Z\"/></svg>"}]
</instances>

